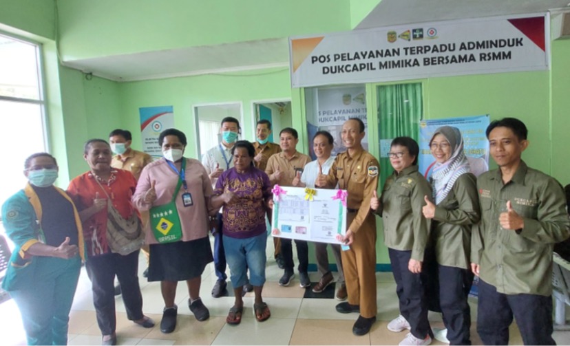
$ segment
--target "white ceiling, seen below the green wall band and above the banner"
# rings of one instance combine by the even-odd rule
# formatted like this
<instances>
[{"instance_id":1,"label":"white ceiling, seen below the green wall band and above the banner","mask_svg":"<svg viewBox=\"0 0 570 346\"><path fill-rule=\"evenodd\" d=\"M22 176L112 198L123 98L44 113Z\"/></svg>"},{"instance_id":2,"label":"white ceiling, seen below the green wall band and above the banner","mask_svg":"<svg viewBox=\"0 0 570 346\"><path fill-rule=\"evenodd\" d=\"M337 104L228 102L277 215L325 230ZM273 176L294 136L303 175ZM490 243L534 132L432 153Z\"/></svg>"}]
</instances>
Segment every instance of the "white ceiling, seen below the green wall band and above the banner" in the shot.
<instances>
[{"instance_id":1,"label":"white ceiling, seen below the green wall band and above the banner","mask_svg":"<svg viewBox=\"0 0 570 346\"><path fill-rule=\"evenodd\" d=\"M570 0L382 0L355 29L504 14L569 9ZM319 32L315 32L319 34ZM288 39L187 47L64 61L86 73L117 81L288 67Z\"/></svg>"}]
</instances>

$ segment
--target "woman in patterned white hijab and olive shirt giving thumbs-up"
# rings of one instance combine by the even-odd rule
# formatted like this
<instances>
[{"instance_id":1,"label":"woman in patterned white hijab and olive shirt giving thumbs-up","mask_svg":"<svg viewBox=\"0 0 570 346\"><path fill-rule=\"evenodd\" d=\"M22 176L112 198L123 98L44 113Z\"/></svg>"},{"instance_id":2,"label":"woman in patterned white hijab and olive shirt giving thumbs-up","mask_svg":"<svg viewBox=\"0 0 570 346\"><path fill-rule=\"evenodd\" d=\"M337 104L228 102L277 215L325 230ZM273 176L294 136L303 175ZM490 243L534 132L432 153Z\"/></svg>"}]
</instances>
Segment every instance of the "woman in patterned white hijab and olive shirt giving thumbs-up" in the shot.
<instances>
[{"instance_id":1,"label":"woman in patterned white hijab and olive shirt giving thumbs-up","mask_svg":"<svg viewBox=\"0 0 570 346\"><path fill-rule=\"evenodd\" d=\"M425 196L423 215L432 219L432 241L439 277L439 304L451 345L471 345L467 296L473 273L469 267L471 228L479 210L476 177L469 172L463 138L456 127L436 129L430 140L436 160L430 182L435 204ZM443 332L445 334L445 332Z\"/></svg>"}]
</instances>

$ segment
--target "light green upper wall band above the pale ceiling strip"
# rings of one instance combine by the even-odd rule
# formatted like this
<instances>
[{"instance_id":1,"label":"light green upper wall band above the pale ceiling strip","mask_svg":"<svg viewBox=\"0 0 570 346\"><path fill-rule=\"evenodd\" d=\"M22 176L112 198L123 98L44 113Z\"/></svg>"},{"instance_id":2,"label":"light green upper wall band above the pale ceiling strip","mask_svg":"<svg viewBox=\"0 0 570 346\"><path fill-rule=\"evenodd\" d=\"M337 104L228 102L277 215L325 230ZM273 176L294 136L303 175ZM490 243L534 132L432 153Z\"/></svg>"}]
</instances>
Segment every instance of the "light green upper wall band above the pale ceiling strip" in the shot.
<instances>
[{"instance_id":1,"label":"light green upper wall band above the pale ceiling strip","mask_svg":"<svg viewBox=\"0 0 570 346\"><path fill-rule=\"evenodd\" d=\"M351 29L348 0L57 3L63 61Z\"/></svg>"}]
</instances>

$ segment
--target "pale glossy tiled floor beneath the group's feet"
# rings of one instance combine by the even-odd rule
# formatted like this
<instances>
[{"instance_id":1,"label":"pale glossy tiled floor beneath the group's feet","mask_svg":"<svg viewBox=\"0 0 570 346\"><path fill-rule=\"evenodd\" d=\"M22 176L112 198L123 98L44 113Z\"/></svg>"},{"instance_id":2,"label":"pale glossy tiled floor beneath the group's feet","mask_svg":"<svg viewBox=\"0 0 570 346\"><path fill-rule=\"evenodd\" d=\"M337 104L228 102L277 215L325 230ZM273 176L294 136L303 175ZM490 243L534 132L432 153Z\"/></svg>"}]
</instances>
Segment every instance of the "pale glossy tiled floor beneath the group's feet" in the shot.
<instances>
[{"instance_id":1,"label":"pale glossy tiled floor beneath the group's feet","mask_svg":"<svg viewBox=\"0 0 570 346\"><path fill-rule=\"evenodd\" d=\"M211 288L215 282L213 265L207 266L202 274L200 295L209 308L211 317L204 322L196 321L187 307L188 292L184 283L179 283L176 301L178 304L178 325L171 334L162 334L158 327L162 316L162 296L158 283L148 283L142 278L146 268L144 257L140 257L140 288L144 300L144 312L154 318L157 325L144 329L127 321L125 307L120 296L116 298L117 336L120 345L397 345L406 332L392 333L386 329L390 319L398 315L398 301L395 283L391 273L378 272L378 321L366 336L354 336L352 324L357 314L339 314L335 311L335 299L303 298L305 289L299 288L298 277L289 287L277 284L282 270L273 261L273 250L268 241L267 283L264 300L271 309L271 318L259 323L253 314L253 294L244 299L245 309L240 325L228 325L225 318L233 305L233 298L226 296L214 299ZM316 272L310 273L313 282L318 281ZM476 321L476 299L470 301L472 315ZM19 311L13 300L0 305L0 336L3 345L25 345L25 334ZM441 327L441 316L430 313L432 327ZM472 325L472 342L481 345ZM570 344L570 332L555 332L558 344ZM70 345L101 345L89 279L85 270L76 291L70 315ZM520 345L522 339L516 325L511 326L511 344ZM432 345L443 345L434 341Z\"/></svg>"}]
</instances>

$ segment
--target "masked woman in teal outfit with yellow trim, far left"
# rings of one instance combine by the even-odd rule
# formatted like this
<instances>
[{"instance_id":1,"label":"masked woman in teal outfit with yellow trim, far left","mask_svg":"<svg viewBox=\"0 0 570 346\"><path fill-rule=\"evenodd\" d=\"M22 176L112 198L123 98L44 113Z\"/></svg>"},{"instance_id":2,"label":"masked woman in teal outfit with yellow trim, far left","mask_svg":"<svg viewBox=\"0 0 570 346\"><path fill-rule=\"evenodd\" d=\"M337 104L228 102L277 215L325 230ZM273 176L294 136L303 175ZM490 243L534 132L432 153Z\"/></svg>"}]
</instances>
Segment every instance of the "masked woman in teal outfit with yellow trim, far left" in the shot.
<instances>
[{"instance_id":1,"label":"masked woman in teal outfit with yellow trim, far left","mask_svg":"<svg viewBox=\"0 0 570 346\"><path fill-rule=\"evenodd\" d=\"M24 164L28 184L2 206L6 235L16 246L2 286L19 307L28 345L67 345L85 258L75 205L53 185L58 170L52 155L31 155Z\"/></svg>"}]
</instances>

